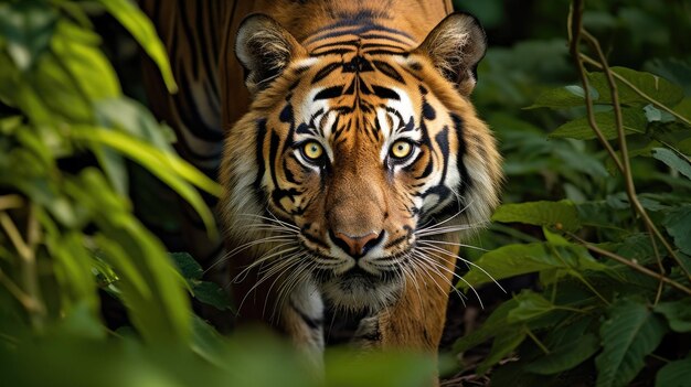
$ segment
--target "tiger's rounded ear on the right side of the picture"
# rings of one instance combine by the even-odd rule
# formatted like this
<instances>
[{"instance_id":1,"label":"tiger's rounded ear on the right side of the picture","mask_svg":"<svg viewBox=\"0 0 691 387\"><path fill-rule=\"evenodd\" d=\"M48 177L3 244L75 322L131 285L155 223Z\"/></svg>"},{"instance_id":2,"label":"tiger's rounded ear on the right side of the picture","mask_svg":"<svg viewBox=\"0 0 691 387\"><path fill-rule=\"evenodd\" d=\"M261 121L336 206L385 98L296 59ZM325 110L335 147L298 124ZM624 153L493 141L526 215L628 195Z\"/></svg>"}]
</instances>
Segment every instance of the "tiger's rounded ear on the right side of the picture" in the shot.
<instances>
[{"instance_id":1,"label":"tiger's rounded ear on the right side of the picture","mask_svg":"<svg viewBox=\"0 0 691 387\"><path fill-rule=\"evenodd\" d=\"M477 82L478 63L487 51L487 35L475 17L455 12L442 20L416 51L426 54L468 96Z\"/></svg>"}]
</instances>

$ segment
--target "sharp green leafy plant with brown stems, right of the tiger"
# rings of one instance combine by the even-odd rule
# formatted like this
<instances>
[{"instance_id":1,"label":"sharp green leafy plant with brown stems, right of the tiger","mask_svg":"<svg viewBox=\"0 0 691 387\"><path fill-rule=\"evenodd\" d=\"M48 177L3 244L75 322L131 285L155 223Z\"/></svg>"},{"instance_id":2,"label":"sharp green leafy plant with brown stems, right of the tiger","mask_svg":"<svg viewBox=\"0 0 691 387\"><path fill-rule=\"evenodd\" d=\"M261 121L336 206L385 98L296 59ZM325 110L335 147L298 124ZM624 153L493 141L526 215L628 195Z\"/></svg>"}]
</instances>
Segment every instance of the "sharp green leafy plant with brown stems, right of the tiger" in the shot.
<instances>
[{"instance_id":1,"label":"sharp green leafy plant with brown stems, right of the tiger","mask_svg":"<svg viewBox=\"0 0 691 387\"><path fill-rule=\"evenodd\" d=\"M681 386L691 361L688 85L609 67L583 26L583 8L573 1L568 18L581 84L543 92L531 107L572 118L549 135L553 143L542 144L581 149L581 158L556 171L572 200L496 212L497 223L530 225L513 233L529 233L523 239L531 241L496 248L475 264L497 279L538 273L538 286L502 303L455 351L493 338L480 374L515 353L492 370L499 386ZM584 44L594 57L583 53ZM464 280L459 287L490 281L475 267Z\"/></svg>"}]
</instances>

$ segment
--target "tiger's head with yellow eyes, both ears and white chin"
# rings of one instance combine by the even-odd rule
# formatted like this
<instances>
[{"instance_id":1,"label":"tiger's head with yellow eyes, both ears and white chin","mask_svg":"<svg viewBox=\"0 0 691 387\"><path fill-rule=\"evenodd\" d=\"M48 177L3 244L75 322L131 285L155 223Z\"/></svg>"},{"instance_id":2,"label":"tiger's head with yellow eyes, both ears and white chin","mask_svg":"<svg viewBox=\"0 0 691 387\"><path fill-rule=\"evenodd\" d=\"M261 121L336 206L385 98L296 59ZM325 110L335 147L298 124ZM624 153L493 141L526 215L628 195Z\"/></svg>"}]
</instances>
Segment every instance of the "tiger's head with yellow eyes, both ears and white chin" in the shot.
<instances>
[{"instance_id":1,"label":"tiger's head with yellow eyes, both ears and white chin","mask_svg":"<svg viewBox=\"0 0 691 387\"><path fill-rule=\"evenodd\" d=\"M242 23L253 104L226 141L221 212L231 246L265 238L255 262L274 275L376 310L424 276L423 240L481 224L498 203L500 157L469 101L486 37L461 13L422 44L330 31L298 43L268 17Z\"/></svg>"}]
</instances>

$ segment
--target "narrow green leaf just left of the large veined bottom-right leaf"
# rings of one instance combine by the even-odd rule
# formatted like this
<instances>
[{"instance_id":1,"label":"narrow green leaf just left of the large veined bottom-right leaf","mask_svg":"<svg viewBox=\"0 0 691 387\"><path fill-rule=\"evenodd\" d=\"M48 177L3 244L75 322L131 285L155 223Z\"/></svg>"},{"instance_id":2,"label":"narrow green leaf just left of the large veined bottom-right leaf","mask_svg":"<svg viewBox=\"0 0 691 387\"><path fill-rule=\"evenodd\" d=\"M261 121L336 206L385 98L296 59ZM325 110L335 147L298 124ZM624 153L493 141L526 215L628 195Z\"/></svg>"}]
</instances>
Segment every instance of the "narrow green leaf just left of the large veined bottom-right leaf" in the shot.
<instances>
[{"instance_id":1,"label":"narrow green leaf just left of the large veined bottom-right leaf","mask_svg":"<svg viewBox=\"0 0 691 387\"><path fill-rule=\"evenodd\" d=\"M588 333L578 340L560 345L548 355L525 366L525 370L539 375L552 375L574 368L585 362L599 350L599 340Z\"/></svg>"}]
</instances>

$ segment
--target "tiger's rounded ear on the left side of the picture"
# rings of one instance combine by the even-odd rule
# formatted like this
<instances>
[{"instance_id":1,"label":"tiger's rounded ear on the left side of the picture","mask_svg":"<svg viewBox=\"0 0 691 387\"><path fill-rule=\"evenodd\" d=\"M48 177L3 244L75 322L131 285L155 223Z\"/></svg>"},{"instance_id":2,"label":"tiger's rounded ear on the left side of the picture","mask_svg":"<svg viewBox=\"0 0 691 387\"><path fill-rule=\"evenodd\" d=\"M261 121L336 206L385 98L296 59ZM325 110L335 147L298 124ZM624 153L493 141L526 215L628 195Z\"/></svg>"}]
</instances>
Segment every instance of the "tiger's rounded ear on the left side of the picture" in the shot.
<instances>
[{"instance_id":1,"label":"tiger's rounded ear on the left side of the picture","mask_svg":"<svg viewBox=\"0 0 691 387\"><path fill-rule=\"evenodd\" d=\"M253 96L266 88L305 49L274 19L246 17L235 37L235 55L245 68L245 85Z\"/></svg>"}]
</instances>

